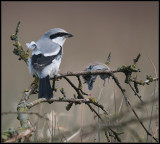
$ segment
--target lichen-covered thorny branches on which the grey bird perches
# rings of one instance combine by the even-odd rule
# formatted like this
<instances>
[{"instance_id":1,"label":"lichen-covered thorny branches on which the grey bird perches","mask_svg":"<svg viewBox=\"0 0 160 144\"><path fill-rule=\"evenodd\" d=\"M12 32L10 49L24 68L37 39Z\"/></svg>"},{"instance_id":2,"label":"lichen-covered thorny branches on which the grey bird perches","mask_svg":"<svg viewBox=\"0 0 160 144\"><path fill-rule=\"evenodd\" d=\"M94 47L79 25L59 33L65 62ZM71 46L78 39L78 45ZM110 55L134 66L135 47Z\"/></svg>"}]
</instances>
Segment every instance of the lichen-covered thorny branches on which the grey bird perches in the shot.
<instances>
[{"instance_id":1,"label":"lichen-covered thorny branches on which the grey bird perches","mask_svg":"<svg viewBox=\"0 0 160 144\"><path fill-rule=\"evenodd\" d=\"M27 50L25 52L23 50L22 45L20 44L20 42L18 40L19 25L20 25L20 22L18 22L18 24L17 24L15 34L12 34L11 37L10 37L11 40L14 41L13 45L15 46L15 48L13 50L13 53L15 55L19 56L19 60L24 60L25 63L27 64L28 57L29 57L29 51ZM107 59L107 62L106 62L107 65L110 63L110 58L111 58L111 53L108 56L108 59ZM64 89L62 89L61 93L63 94L64 97L60 97L60 98L55 98L54 97L54 98L52 98L50 100L42 98L42 99L38 99L38 100L35 100L33 102L28 103L27 101L28 101L30 95L38 93L37 88L38 88L38 85L39 85L39 80L38 80L37 77L35 77L35 80L30 85L30 87L28 89L24 90L22 99L20 100L20 102L19 102L19 104L17 106L18 120L21 123L21 128L20 128L21 131L18 132L18 133L16 131L16 135L12 134L12 135L9 135L9 136L7 134L11 133L11 132L10 131L7 131L7 132L5 131L4 133L2 133L2 140L4 142L15 142L15 141L17 141L17 140L19 140L19 139L21 139L23 137L27 137L27 136L30 137L32 135L32 132L35 131L35 127L31 125L31 123L29 121L29 117L28 117L28 115L26 113L29 114L29 110L33 106L36 106L36 105L38 105L38 104L40 104L42 102L48 102L50 104L52 102L68 102L69 103L68 107L66 107L67 110L69 110L72 107L73 103L74 104L85 103L85 104L88 105L88 107L91 109L91 111L93 111L103 121L103 119L101 118L101 116L95 111L95 109L93 109L93 107L91 106L91 104L93 104L93 105L101 108L102 111L105 114L110 115L109 112L107 112L104 109L103 105L100 104L100 103L98 103L93 97L90 97L88 99L85 99L83 97L83 95L88 95L88 94L85 93L85 92L83 92L83 90L82 90L82 83L81 83L80 76L83 76L83 75L104 75L104 74L108 74L110 77L112 77L112 79L114 80L114 82L116 83L116 85L121 90L121 92L122 92L122 94L123 94L123 96L125 98L125 101L126 101L127 105L130 107L130 109L132 110L133 114L135 115L135 117L137 118L138 122L141 124L141 126L143 127L143 129L146 131L146 133L149 136L151 136L156 142L158 142L158 139L155 138L146 129L146 127L144 126L142 120L139 118L139 116L137 115L137 113L134 110L133 106L131 105L128 97L126 96L125 89L122 88L122 86L120 85L120 83L118 81L118 78L115 76L116 73L119 73L119 72L124 73L125 76L126 76L125 83L127 83L127 84L130 85L130 87L133 90L133 92L135 93L135 95L140 99L140 101L142 101L141 97L138 94L138 92L139 92L138 91L138 86L139 85L150 84L153 81L159 80L159 78L152 78L151 76L147 76L147 80L142 81L142 80L137 80L137 77L132 77L132 73L133 72L135 72L135 73L140 72L139 69L136 69L136 63L138 62L139 58L140 58L140 54L133 60L133 64L132 65L129 65L129 66L124 66L123 65L122 67L120 67L120 68L118 68L116 70L105 70L105 71L104 70L96 70L96 71L68 72L68 73L61 73L59 76L55 76L54 80L58 80L58 79L64 78L71 85L71 87L73 87L73 89L76 91L77 97L74 96L74 98L71 98L71 99L67 99L66 98ZM73 84L71 82L71 80L69 78L67 78L69 76L75 76L75 77L77 77L79 85L75 86L75 84ZM53 80L53 78L51 78L51 80ZM132 85L130 84L131 82L134 83L134 87L132 87ZM54 88L55 88L55 85L53 84L53 89ZM109 136L112 133L111 135L114 136L114 138L117 141L121 141L120 138L119 138L119 136L118 136L119 133L115 132L113 129L111 129L111 127L106 127L104 131L105 131L107 139L109 139ZM12 133L14 133L14 132L12 132Z\"/></svg>"}]
</instances>

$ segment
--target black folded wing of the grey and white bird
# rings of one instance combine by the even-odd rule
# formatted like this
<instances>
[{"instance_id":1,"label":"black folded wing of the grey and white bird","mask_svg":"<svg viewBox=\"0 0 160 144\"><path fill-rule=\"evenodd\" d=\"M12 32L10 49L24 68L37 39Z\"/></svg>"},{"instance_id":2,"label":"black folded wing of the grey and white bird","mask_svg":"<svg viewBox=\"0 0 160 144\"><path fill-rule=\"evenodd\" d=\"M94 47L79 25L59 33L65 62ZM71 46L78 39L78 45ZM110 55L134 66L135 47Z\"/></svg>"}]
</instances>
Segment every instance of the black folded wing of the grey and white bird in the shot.
<instances>
[{"instance_id":1,"label":"black folded wing of the grey and white bird","mask_svg":"<svg viewBox=\"0 0 160 144\"><path fill-rule=\"evenodd\" d=\"M53 55L53 56L44 56L43 54L33 55L32 66L35 70L41 71L44 67L51 64L52 61L61 54L62 54L62 47L57 55Z\"/></svg>"}]
</instances>

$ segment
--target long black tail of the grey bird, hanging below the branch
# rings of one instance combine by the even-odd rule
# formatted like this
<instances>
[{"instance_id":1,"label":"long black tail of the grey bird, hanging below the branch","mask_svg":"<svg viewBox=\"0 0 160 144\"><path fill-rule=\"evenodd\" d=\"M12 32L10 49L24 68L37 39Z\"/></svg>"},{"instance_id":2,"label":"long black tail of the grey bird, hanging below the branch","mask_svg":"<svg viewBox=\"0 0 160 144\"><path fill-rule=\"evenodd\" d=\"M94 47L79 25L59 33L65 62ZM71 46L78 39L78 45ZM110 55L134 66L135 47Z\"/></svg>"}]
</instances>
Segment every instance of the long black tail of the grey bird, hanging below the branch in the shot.
<instances>
[{"instance_id":1,"label":"long black tail of the grey bird, hanging below the branch","mask_svg":"<svg viewBox=\"0 0 160 144\"><path fill-rule=\"evenodd\" d=\"M53 97L52 88L49 81L49 76L40 79L38 98L51 99Z\"/></svg>"}]
</instances>

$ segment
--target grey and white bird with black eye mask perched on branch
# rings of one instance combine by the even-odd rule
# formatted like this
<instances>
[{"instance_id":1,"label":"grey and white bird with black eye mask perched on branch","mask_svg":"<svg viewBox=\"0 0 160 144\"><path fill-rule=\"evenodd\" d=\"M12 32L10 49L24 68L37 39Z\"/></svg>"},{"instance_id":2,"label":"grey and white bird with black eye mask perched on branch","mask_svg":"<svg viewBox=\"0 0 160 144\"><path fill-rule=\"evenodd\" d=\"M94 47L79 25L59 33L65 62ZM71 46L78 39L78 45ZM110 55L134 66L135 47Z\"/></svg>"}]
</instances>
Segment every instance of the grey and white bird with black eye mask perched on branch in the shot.
<instances>
[{"instance_id":1,"label":"grey and white bird with black eye mask perched on branch","mask_svg":"<svg viewBox=\"0 0 160 144\"><path fill-rule=\"evenodd\" d=\"M38 98L50 99L53 91L50 85L50 77L57 75L63 54L63 44L71 33L60 28L54 28L46 32L37 42L26 43L32 49L32 57L28 59L28 68L32 75L39 77Z\"/></svg>"}]
</instances>

